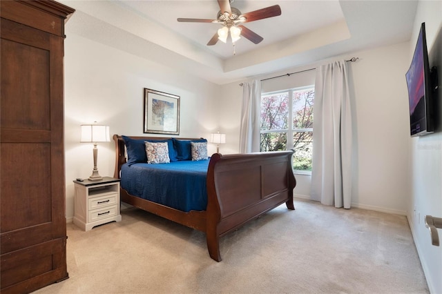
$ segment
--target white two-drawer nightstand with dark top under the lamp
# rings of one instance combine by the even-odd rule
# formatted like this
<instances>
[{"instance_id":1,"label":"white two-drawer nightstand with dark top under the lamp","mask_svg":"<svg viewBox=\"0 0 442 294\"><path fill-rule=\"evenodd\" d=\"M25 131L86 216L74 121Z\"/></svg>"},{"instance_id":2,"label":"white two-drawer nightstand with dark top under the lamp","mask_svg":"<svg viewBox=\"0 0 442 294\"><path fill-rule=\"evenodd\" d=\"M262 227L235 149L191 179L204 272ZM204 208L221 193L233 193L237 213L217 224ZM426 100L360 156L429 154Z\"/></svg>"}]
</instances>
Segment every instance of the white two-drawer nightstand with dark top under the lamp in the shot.
<instances>
[{"instance_id":1,"label":"white two-drawer nightstand with dark top under the lamp","mask_svg":"<svg viewBox=\"0 0 442 294\"><path fill-rule=\"evenodd\" d=\"M84 231L107 222L119 222L119 179L103 177L100 181L74 181L74 224Z\"/></svg>"}]
</instances>

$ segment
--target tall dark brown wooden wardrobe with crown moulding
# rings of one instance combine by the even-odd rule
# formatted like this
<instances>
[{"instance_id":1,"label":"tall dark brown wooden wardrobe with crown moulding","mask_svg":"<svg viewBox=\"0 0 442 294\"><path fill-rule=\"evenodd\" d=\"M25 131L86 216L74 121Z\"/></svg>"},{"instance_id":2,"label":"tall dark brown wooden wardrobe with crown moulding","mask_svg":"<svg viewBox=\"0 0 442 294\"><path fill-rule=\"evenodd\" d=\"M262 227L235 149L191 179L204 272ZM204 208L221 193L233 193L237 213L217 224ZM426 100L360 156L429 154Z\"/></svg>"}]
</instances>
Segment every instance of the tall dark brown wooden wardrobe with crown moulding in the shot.
<instances>
[{"instance_id":1,"label":"tall dark brown wooden wardrobe with crown moulding","mask_svg":"<svg viewBox=\"0 0 442 294\"><path fill-rule=\"evenodd\" d=\"M68 277L64 21L55 1L0 1L0 284L29 293Z\"/></svg>"}]
</instances>

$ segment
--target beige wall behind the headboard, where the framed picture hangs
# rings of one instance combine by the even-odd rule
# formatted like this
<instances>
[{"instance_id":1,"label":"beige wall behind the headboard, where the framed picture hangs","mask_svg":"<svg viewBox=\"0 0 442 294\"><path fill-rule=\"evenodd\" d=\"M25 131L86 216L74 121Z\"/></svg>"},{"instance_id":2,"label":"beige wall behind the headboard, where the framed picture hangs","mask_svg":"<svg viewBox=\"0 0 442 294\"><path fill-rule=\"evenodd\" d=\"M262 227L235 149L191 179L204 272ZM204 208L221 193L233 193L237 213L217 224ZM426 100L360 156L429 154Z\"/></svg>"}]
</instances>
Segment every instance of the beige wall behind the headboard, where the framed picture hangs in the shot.
<instances>
[{"instance_id":1,"label":"beige wall behind the headboard, where the framed picture hangs","mask_svg":"<svg viewBox=\"0 0 442 294\"><path fill-rule=\"evenodd\" d=\"M66 26L66 36L66 217L69 221L74 214L72 181L89 177L93 169L93 144L79 143L80 124L97 121L110 126L111 135L144 135L143 89L151 88L180 96L181 137L209 137L218 130L216 106L220 87L161 63L79 37L69 31L69 26ZM216 147L209 144L209 153L215 150ZM113 176L113 141L98 144L97 166L100 175Z\"/></svg>"}]
</instances>

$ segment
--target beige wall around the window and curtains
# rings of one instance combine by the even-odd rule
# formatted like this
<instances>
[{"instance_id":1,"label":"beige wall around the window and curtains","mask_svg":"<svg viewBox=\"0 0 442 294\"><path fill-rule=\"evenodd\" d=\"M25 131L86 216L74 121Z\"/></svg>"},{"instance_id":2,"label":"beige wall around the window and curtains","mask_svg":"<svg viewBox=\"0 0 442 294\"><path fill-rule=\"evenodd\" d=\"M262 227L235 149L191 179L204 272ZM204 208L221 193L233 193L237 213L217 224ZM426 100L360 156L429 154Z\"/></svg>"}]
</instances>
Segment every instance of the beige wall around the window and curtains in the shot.
<instances>
[{"instance_id":1,"label":"beige wall around the window and curtains","mask_svg":"<svg viewBox=\"0 0 442 294\"><path fill-rule=\"evenodd\" d=\"M406 214L410 197L410 147L407 143L409 121L407 117L407 85L405 71L408 67L409 43L354 52L345 57L359 57L349 63L354 106L355 145L352 206ZM323 61L326 62L326 61ZM318 63L319 64L319 63ZM317 64L302 68L289 68L274 72L267 77L285 75L314 68ZM309 73L291 75L265 82L264 88L276 90L291 88L289 84L309 79ZM287 83L287 84L286 84ZM240 125L242 88L238 83L222 86L224 95L220 103L220 125L229 138L238 138ZM238 139L229 141L226 150L238 152ZM308 198L311 176L296 175L295 194Z\"/></svg>"}]
</instances>

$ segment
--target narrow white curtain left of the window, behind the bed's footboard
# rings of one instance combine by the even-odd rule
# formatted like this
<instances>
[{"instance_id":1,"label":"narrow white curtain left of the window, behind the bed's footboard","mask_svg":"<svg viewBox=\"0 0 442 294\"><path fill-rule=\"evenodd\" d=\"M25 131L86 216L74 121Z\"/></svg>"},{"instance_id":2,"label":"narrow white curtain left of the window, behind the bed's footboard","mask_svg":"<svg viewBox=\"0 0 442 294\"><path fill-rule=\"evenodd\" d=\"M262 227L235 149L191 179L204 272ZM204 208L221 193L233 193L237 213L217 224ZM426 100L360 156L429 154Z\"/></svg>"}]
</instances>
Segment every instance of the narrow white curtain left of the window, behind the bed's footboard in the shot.
<instances>
[{"instance_id":1,"label":"narrow white curtain left of the window, behind the bed's footboard","mask_svg":"<svg viewBox=\"0 0 442 294\"><path fill-rule=\"evenodd\" d=\"M244 82L242 85L240 153L260 151L260 103L261 81L256 79Z\"/></svg>"}]
</instances>

